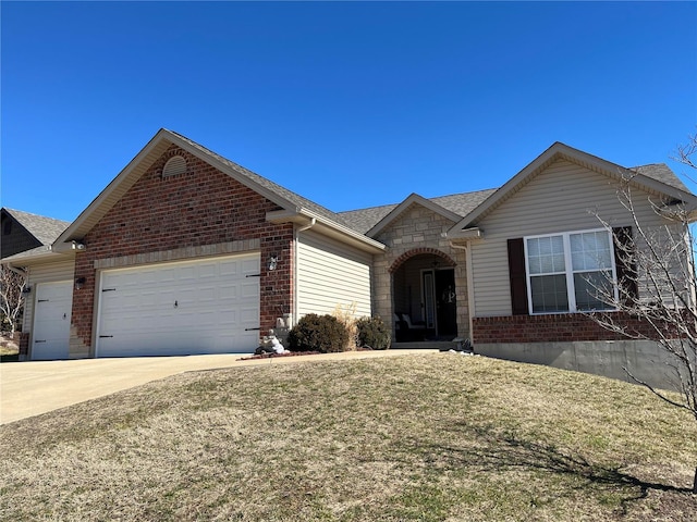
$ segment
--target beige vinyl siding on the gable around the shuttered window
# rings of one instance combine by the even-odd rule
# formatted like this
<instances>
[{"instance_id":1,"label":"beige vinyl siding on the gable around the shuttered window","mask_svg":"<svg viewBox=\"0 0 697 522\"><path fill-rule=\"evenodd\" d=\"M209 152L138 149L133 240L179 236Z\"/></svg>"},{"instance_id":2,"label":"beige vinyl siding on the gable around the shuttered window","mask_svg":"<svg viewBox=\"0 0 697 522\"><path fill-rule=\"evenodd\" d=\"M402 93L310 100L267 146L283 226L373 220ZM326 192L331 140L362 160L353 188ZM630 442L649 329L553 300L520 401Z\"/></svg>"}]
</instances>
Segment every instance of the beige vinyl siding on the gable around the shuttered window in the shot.
<instances>
[{"instance_id":1,"label":"beige vinyl siding on the gable around the shuttered window","mask_svg":"<svg viewBox=\"0 0 697 522\"><path fill-rule=\"evenodd\" d=\"M484 239L472 246L475 316L511 314L508 239L602 228L594 212L612 226L632 225L616 189L617 182L607 175L559 160L477 223ZM635 190L639 222L660 225L647 198Z\"/></svg>"}]
</instances>

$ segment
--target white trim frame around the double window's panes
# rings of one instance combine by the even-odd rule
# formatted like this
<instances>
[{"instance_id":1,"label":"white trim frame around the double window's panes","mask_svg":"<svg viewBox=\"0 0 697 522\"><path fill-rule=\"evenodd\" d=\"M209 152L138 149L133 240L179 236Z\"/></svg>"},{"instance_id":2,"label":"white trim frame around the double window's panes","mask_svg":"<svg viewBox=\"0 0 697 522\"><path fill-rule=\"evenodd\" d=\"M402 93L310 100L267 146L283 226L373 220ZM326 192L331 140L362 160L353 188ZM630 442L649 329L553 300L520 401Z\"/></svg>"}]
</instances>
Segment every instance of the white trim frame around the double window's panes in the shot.
<instances>
[{"instance_id":1,"label":"white trim frame around the double window's panes","mask_svg":"<svg viewBox=\"0 0 697 522\"><path fill-rule=\"evenodd\" d=\"M575 234L586 234L586 233L595 233L595 232L604 232L606 234L608 234L609 239L610 239L610 264L612 266L612 281L613 281L613 293L614 293L614 298L615 300L617 299L617 271L616 271L616 265L615 265L615 259L614 259L614 240L612 237L612 233L610 231L608 231L607 228L589 228L589 229L583 229L583 231L570 231L570 232L554 232L551 234L537 234L534 236L524 236L523 237L523 251L524 251L524 257L525 257L525 285L527 288L527 309L528 309L528 313L530 315L552 315L552 314L560 314L560 313L587 313L588 310L578 310L576 307L576 295L575 295L575 286L574 286L574 270L573 270L573 265L572 265L572 258L571 258L571 239L570 237L572 235ZM555 311L555 312L534 312L533 311L533 288L530 285L530 278L533 277L530 274L530 266L529 266L529 258L528 258L528 251L527 251L527 241L528 239L539 239L542 237L554 237L554 236L562 236L562 241L564 244L564 275L566 276L566 300L568 302L568 310L565 311ZM577 271L577 272L588 272L588 271ZM545 274L545 275L553 275L552 273L550 274ZM559 275L561 275L561 273L559 273ZM611 311L614 310L614 308L603 308L602 310L598 310L598 311Z\"/></svg>"}]
</instances>

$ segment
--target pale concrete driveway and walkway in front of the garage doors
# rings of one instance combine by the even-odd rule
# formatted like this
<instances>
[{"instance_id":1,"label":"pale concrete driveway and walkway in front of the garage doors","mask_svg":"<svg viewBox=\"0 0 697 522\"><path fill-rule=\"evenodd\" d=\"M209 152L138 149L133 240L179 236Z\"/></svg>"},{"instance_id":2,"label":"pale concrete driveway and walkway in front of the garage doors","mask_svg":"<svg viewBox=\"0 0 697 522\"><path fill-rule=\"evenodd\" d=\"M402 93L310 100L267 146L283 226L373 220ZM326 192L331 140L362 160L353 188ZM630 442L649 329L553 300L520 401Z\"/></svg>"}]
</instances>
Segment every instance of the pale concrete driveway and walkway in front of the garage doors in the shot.
<instances>
[{"instance_id":1,"label":"pale concrete driveway and walkway in front of the garage doors","mask_svg":"<svg viewBox=\"0 0 697 522\"><path fill-rule=\"evenodd\" d=\"M437 350L375 350L241 361L221 356L135 357L0 364L0 424L110 395L178 373L262 364L394 357ZM248 357L248 356L246 356Z\"/></svg>"}]
</instances>

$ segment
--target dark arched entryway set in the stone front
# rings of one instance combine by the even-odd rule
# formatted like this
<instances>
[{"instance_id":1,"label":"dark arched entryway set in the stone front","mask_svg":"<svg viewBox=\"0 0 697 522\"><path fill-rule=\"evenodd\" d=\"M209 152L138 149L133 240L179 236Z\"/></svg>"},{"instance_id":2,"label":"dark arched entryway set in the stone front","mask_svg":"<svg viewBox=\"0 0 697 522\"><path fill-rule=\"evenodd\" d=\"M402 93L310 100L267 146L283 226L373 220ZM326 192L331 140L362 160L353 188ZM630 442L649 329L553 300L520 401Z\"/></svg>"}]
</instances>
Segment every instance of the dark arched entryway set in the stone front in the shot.
<instances>
[{"instance_id":1,"label":"dark arched entryway set in the stone front","mask_svg":"<svg viewBox=\"0 0 697 522\"><path fill-rule=\"evenodd\" d=\"M396 341L457 336L455 262L436 249L406 252L390 270Z\"/></svg>"}]
</instances>

